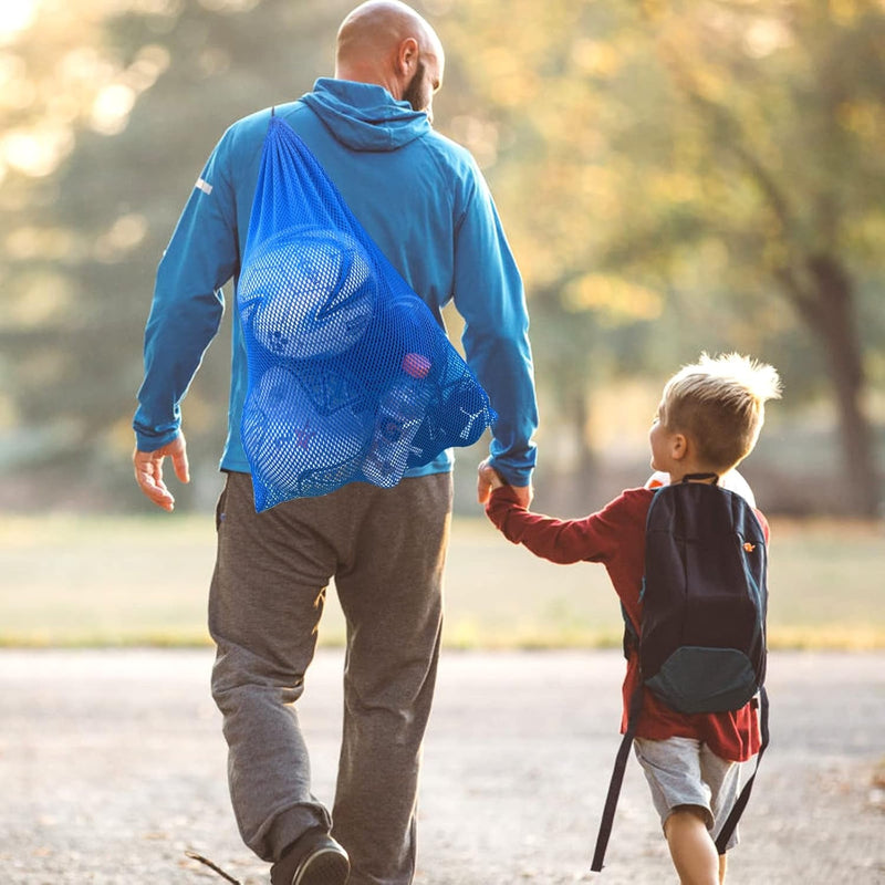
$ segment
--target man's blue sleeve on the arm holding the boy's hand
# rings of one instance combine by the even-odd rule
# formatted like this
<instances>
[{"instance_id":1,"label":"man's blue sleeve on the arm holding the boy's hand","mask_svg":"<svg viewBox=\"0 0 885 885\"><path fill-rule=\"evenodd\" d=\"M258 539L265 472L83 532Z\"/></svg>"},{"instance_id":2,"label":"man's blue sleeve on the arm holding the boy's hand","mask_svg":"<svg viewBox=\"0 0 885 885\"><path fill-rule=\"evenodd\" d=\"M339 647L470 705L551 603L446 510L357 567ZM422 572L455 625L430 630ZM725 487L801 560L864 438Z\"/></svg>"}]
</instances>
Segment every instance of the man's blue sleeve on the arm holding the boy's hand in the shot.
<instances>
[{"instance_id":1,"label":"man's blue sleeve on the arm holding the boy's hand","mask_svg":"<svg viewBox=\"0 0 885 885\"><path fill-rule=\"evenodd\" d=\"M498 413L492 466L513 486L528 486L538 427L529 315L517 263L479 169L456 231L455 306L464 317L467 362Z\"/></svg>"}]
</instances>

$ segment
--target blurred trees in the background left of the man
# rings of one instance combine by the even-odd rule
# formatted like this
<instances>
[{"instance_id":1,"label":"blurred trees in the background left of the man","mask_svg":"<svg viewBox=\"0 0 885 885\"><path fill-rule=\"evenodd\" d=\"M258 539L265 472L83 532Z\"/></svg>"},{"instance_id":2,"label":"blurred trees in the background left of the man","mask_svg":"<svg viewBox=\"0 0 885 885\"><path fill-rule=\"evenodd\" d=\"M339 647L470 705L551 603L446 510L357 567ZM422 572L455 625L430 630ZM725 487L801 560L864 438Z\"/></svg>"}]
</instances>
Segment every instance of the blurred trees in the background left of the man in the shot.
<instances>
[{"instance_id":1,"label":"blurred trees in the background left of the man","mask_svg":"<svg viewBox=\"0 0 885 885\"><path fill-rule=\"evenodd\" d=\"M34 4L29 27L0 52L9 76L0 454L45 494L83 485L113 504L115 488L132 490L142 335L178 212L228 124L331 73L347 7ZM195 465L217 462L223 441L229 330L219 339L186 406Z\"/></svg>"}]
</instances>

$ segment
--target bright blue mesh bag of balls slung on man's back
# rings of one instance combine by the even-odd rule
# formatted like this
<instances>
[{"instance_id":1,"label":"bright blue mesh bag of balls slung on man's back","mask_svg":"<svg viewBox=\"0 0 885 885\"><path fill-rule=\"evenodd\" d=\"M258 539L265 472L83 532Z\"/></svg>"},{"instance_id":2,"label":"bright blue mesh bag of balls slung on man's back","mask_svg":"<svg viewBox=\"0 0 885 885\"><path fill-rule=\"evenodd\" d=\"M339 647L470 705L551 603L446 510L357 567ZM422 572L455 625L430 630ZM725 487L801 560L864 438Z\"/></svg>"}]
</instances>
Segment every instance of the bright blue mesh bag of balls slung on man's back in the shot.
<instances>
[{"instance_id":1,"label":"bright blue mesh bag of balls slung on man's back","mask_svg":"<svg viewBox=\"0 0 885 885\"><path fill-rule=\"evenodd\" d=\"M256 510L389 488L496 418L427 305L306 145L271 116L237 288Z\"/></svg>"}]
</instances>

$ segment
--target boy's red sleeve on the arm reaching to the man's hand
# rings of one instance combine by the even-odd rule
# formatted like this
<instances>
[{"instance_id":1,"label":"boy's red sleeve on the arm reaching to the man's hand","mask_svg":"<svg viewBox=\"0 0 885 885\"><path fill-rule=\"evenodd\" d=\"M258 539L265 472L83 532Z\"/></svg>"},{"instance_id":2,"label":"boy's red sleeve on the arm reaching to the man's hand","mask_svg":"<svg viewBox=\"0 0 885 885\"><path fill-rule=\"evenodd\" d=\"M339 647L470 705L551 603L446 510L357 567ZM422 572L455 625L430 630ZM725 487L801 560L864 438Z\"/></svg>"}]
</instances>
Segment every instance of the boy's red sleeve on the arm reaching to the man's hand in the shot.
<instances>
[{"instance_id":1,"label":"boy's red sleeve on the arm reaching to the man's hand","mask_svg":"<svg viewBox=\"0 0 885 885\"><path fill-rule=\"evenodd\" d=\"M486 513L508 541L537 556L560 564L607 562L621 538L618 500L583 519L555 519L527 510L504 486L491 493Z\"/></svg>"}]
</instances>

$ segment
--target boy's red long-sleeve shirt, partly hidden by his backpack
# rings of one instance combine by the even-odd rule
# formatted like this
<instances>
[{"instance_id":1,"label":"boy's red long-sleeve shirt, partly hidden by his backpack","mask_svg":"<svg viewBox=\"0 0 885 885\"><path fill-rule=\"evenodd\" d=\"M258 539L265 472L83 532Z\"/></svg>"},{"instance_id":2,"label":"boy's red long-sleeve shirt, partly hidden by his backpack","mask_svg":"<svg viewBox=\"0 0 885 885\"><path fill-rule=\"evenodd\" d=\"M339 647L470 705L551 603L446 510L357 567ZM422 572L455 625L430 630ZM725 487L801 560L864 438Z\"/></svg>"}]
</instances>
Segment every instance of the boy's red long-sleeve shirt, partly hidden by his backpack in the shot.
<instances>
[{"instance_id":1,"label":"boy's red long-sleeve shirt, partly hidden by his backpack","mask_svg":"<svg viewBox=\"0 0 885 885\"><path fill-rule=\"evenodd\" d=\"M558 563L601 562L605 565L633 624L642 623L642 589L645 571L645 523L654 490L628 489L596 513L583 519L553 519L521 507L509 487L496 489L486 507L489 519L514 544L524 544L538 556ZM757 511L758 513L758 511ZM768 523L758 513L768 539ZM627 658L624 679L626 729L629 699L639 680L636 652ZM676 712L645 690L636 736L652 740L671 737L704 741L720 758L742 762L759 751L756 707L747 704L735 712Z\"/></svg>"}]
</instances>

